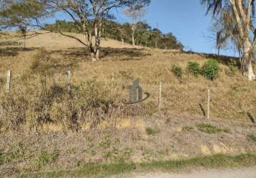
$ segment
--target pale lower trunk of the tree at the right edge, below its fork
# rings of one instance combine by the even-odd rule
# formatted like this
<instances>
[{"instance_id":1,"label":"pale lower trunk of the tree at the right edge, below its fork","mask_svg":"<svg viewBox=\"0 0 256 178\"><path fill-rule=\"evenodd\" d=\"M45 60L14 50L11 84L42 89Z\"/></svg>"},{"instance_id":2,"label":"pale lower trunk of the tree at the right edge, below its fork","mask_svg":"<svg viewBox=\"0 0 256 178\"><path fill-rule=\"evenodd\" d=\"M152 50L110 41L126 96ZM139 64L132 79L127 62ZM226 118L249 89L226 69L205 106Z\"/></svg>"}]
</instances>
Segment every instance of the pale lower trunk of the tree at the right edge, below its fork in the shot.
<instances>
[{"instance_id":1,"label":"pale lower trunk of the tree at the right edge, below its fork","mask_svg":"<svg viewBox=\"0 0 256 178\"><path fill-rule=\"evenodd\" d=\"M243 61L245 64L245 73L244 75L248 80L255 80L255 74L252 69L252 56L250 52L253 51L253 46L250 44L250 41L246 41L244 44L244 53L243 53Z\"/></svg>"}]
</instances>

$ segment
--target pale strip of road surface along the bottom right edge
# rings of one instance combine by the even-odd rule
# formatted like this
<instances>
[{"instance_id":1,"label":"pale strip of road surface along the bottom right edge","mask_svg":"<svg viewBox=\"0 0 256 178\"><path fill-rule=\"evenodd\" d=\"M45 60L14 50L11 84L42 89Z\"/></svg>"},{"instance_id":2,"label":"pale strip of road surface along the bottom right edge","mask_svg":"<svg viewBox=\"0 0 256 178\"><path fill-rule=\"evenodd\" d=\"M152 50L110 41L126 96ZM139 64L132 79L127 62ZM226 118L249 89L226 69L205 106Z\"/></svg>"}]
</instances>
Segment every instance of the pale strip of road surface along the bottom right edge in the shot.
<instances>
[{"instance_id":1,"label":"pale strip of road surface along the bottom right edge","mask_svg":"<svg viewBox=\"0 0 256 178\"><path fill-rule=\"evenodd\" d=\"M187 173L149 173L139 174L136 178L256 178L256 167L226 170L203 170Z\"/></svg>"}]
</instances>

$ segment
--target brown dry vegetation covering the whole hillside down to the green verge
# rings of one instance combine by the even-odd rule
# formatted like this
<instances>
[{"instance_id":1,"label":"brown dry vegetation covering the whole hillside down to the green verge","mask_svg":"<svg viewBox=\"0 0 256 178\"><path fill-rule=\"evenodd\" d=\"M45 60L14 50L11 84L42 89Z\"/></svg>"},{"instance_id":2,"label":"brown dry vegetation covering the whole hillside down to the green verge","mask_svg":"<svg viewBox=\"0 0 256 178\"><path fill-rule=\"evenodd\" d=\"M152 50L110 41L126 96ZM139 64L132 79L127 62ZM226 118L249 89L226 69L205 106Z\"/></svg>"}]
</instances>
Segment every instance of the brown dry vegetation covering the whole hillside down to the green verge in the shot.
<instances>
[{"instance_id":1,"label":"brown dry vegetation covering the whole hillside down to the green verge","mask_svg":"<svg viewBox=\"0 0 256 178\"><path fill-rule=\"evenodd\" d=\"M18 42L0 46L0 141L5 142L0 147L0 172L6 176L41 167L51 170L53 165L70 169L81 162L255 152L255 142L248 135L256 135L256 130L247 112L256 116L256 83L243 78L238 68L229 74L231 58L218 58L222 70L217 80L187 73L177 80L172 64L185 69L188 61L202 65L213 56L132 48L104 40L102 61L91 63L86 48L59 34L30 38L25 51L22 40ZM4 88L7 70L13 73L9 93ZM72 70L71 91L67 70ZM135 79L150 98L139 105L123 105ZM157 105L160 80L161 112ZM205 120L200 104L206 109L208 88L215 120L210 124L220 127L217 130L228 128L211 136L197 128Z\"/></svg>"}]
</instances>

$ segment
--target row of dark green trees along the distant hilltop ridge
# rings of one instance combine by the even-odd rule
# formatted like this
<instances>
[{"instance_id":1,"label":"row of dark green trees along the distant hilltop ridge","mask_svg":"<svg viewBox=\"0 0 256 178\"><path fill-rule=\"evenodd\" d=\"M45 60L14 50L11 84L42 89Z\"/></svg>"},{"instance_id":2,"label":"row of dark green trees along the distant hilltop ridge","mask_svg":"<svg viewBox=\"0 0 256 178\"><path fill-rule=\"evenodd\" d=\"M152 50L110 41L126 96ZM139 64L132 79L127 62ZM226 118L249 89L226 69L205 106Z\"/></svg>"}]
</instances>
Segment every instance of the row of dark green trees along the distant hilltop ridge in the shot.
<instances>
[{"instance_id":1,"label":"row of dark green trees along the distant hilltop ridge","mask_svg":"<svg viewBox=\"0 0 256 178\"><path fill-rule=\"evenodd\" d=\"M124 41L132 44L132 28L130 23L117 23L115 21L104 21L102 28L102 37L110 38L117 41ZM48 30L59 29L59 31L70 33L82 33L76 28L72 21L58 20L52 24L46 24ZM44 29L45 29L44 28ZM179 49L183 50L183 45L172 33L164 34L157 28L152 28L148 23L139 21L137 30L134 34L134 41L139 46L162 49Z\"/></svg>"}]
</instances>

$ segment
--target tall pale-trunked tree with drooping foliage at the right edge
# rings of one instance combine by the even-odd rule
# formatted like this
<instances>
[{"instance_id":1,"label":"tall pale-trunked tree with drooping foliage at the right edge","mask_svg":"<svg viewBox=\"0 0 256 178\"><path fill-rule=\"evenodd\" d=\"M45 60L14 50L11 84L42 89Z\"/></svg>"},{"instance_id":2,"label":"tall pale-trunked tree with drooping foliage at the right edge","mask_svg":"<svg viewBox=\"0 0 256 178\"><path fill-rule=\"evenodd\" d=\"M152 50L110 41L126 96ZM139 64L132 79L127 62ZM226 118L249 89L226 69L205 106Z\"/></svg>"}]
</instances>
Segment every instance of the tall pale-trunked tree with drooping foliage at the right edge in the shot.
<instances>
[{"instance_id":1,"label":"tall pale-trunked tree with drooping foliage at the right edge","mask_svg":"<svg viewBox=\"0 0 256 178\"><path fill-rule=\"evenodd\" d=\"M221 18L223 13L229 14L232 24L235 25L237 35L235 41L242 51L245 69L244 75L248 80L255 80L252 68L253 53L256 44L256 30L254 26L255 0L201 0L207 7L207 14L212 13ZM227 26L226 26L227 27ZM224 28L224 30L227 30ZM233 35L233 33L230 33Z\"/></svg>"}]
</instances>

